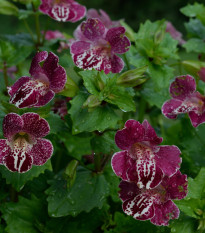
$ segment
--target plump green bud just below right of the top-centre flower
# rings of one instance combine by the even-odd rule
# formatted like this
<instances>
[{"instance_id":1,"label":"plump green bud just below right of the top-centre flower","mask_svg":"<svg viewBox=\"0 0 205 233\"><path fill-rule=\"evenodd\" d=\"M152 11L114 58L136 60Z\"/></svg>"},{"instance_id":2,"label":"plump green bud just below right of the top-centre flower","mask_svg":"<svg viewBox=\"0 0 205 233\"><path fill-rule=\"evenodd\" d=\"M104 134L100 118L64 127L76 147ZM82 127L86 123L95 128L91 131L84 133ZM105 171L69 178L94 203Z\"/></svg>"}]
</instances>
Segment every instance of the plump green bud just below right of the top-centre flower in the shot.
<instances>
[{"instance_id":1,"label":"plump green bud just below right of the top-centre flower","mask_svg":"<svg viewBox=\"0 0 205 233\"><path fill-rule=\"evenodd\" d=\"M147 66L129 70L119 76L117 84L123 87L135 87L144 83L147 79L145 78L145 71Z\"/></svg>"}]
</instances>

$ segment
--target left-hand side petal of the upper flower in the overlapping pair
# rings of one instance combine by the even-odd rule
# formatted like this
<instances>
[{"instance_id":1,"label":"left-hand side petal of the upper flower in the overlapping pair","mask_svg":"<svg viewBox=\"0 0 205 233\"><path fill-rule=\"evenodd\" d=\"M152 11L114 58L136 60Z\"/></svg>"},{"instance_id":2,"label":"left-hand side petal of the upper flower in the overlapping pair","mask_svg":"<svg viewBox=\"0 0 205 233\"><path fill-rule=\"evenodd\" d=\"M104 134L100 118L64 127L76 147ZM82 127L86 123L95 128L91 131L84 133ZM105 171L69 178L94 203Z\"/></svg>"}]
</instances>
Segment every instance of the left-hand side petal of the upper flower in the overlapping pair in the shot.
<instances>
[{"instance_id":1,"label":"left-hand side petal of the upper flower in the overlapping pair","mask_svg":"<svg viewBox=\"0 0 205 233\"><path fill-rule=\"evenodd\" d=\"M120 151L113 155L111 165L115 174L123 180L127 180L127 170L135 161L131 159L127 151Z\"/></svg>"}]
</instances>

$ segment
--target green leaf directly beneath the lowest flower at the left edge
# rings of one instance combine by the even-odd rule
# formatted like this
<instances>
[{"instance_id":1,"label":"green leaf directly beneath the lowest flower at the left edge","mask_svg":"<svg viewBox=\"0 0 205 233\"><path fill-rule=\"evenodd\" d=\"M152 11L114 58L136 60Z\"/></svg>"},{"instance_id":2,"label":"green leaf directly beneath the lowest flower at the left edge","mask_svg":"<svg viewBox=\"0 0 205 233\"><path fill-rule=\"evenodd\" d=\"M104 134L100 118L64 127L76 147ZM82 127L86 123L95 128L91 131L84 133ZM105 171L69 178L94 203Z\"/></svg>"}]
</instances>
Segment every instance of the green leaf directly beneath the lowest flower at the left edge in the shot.
<instances>
[{"instance_id":1,"label":"green leaf directly beneath the lowest flower at the left edge","mask_svg":"<svg viewBox=\"0 0 205 233\"><path fill-rule=\"evenodd\" d=\"M6 179L6 183L11 184L18 192L24 187L26 182L32 180L34 177L38 177L41 173L45 172L46 169L52 170L50 160L42 166L33 166L31 170L26 173L10 172L3 165L0 166L0 172L2 177Z\"/></svg>"}]
</instances>

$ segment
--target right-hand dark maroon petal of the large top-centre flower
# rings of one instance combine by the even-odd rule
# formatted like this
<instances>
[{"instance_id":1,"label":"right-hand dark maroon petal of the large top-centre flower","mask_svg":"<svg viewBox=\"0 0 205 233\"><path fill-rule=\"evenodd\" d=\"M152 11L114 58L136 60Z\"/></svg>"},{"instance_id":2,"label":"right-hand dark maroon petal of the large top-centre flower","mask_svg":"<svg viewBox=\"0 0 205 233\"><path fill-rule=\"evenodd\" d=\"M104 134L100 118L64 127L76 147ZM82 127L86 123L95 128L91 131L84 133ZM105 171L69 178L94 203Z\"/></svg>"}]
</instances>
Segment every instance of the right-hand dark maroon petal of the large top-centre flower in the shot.
<instances>
[{"instance_id":1,"label":"right-hand dark maroon petal of the large top-centre flower","mask_svg":"<svg viewBox=\"0 0 205 233\"><path fill-rule=\"evenodd\" d=\"M131 46L129 39L125 36L124 27L115 27L108 30L105 39L110 43L112 52L123 54Z\"/></svg>"}]
</instances>

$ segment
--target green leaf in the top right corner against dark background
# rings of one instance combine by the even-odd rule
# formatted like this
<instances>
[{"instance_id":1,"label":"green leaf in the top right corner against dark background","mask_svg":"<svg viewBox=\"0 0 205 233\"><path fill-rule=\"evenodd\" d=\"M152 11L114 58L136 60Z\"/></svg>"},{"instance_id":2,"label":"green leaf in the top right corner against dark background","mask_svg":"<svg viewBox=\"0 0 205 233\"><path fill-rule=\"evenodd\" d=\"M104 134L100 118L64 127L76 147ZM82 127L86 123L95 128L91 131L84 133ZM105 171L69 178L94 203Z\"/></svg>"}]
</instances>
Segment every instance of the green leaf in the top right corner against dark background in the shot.
<instances>
[{"instance_id":1,"label":"green leaf in the top right corner against dark background","mask_svg":"<svg viewBox=\"0 0 205 233\"><path fill-rule=\"evenodd\" d=\"M188 4L187 6L180 9L180 11L188 17L196 17L205 24L205 6L203 4L195 2L193 5Z\"/></svg>"}]
</instances>

